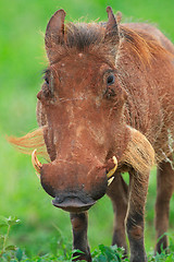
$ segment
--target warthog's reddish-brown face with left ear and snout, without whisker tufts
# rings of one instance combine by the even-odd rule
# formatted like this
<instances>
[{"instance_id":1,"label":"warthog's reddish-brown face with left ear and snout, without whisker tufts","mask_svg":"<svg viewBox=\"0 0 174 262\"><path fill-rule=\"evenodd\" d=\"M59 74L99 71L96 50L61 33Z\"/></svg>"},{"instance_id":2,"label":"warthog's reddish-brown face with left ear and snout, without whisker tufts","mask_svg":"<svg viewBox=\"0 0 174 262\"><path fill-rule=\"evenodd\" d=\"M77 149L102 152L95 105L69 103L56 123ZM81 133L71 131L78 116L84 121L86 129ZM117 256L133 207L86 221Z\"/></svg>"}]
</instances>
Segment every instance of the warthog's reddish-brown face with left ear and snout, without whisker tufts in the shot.
<instances>
[{"instance_id":1,"label":"warthog's reddish-brown face with left ear and snout, without whisker tufts","mask_svg":"<svg viewBox=\"0 0 174 262\"><path fill-rule=\"evenodd\" d=\"M115 167L112 157L120 159L126 147L126 93L120 86L114 57L104 59L111 50L102 56L92 50L95 40L101 47L110 41L113 16L107 28L98 25L92 36L87 24L64 31L64 16L63 10L58 11L46 31L50 66L37 97L51 163L40 168L41 184L55 206L84 211L105 193L107 174ZM85 34L88 44L80 39Z\"/></svg>"}]
</instances>

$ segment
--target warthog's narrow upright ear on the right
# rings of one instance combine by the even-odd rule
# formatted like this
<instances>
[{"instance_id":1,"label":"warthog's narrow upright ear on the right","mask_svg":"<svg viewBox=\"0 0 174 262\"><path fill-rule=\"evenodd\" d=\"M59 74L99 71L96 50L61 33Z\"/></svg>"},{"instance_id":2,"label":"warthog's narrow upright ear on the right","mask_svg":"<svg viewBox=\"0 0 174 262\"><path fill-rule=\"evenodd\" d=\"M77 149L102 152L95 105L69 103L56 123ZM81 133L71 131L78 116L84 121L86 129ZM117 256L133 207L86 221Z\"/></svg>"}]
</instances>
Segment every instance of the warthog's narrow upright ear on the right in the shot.
<instances>
[{"instance_id":1,"label":"warthog's narrow upright ear on the right","mask_svg":"<svg viewBox=\"0 0 174 262\"><path fill-rule=\"evenodd\" d=\"M112 12L111 7L107 8L107 12L108 12L108 23L107 23L107 27L105 27L105 37L104 38L105 39L113 38L113 40L116 45L120 40L117 22Z\"/></svg>"}]
</instances>

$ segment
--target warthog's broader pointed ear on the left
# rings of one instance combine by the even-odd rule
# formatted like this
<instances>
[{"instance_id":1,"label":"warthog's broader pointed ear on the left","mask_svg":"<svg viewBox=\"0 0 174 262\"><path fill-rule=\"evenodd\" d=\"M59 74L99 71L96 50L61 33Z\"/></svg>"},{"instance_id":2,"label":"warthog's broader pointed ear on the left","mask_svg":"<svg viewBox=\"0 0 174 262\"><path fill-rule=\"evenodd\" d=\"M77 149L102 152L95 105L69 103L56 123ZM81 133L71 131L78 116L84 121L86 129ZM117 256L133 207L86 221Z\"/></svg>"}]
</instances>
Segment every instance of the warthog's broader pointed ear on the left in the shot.
<instances>
[{"instance_id":1,"label":"warthog's broader pointed ear on the left","mask_svg":"<svg viewBox=\"0 0 174 262\"><path fill-rule=\"evenodd\" d=\"M48 22L45 36L48 58L52 56L55 45L63 45L64 43L64 19L65 11L63 9L60 9Z\"/></svg>"}]
</instances>

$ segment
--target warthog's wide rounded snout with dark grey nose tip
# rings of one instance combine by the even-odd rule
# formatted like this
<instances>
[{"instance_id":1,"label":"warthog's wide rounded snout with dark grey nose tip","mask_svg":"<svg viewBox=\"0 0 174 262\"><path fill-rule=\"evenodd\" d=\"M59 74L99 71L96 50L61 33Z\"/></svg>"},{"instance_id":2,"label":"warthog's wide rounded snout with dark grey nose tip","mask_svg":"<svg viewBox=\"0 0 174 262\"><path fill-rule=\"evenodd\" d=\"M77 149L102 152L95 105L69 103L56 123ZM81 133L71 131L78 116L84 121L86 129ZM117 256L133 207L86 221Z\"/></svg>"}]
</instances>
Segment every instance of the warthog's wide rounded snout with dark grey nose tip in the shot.
<instances>
[{"instance_id":1,"label":"warthog's wide rounded snout with dark grey nose tip","mask_svg":"<svg viewBox=\"0 0 174 262\"><path fill-rule=\"evenodd\" d=\"M89 163L54 160L40 167L40 181L52 204L69 212L90 209L108 188L105 168Z\"/></svg>"}]
</instances>

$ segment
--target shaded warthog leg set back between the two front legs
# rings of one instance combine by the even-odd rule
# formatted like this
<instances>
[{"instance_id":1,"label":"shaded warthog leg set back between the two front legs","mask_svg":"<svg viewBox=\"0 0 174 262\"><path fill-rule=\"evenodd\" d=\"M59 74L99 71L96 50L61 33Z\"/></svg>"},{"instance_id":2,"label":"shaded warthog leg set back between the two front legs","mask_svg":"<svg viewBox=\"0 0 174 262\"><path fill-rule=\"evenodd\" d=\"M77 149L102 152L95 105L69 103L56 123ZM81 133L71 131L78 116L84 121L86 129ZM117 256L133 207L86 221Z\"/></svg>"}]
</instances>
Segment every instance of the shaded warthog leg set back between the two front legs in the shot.
<instances>
[{"instance_id":1,"label":"shaded warthog leg set back between the two front legs","mask_svg":"<svg viewBox=\"0 0 174 262\"><path fill-rule=\"evenodd\" d=\"M110 196L114 211L114 231L112 245L123 247L127 253L125 236L125 217L127 213L128 187L121 174L115 174L113 182L108 188L107 194Z\"/></svg>"}]
</instances>

